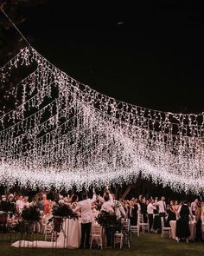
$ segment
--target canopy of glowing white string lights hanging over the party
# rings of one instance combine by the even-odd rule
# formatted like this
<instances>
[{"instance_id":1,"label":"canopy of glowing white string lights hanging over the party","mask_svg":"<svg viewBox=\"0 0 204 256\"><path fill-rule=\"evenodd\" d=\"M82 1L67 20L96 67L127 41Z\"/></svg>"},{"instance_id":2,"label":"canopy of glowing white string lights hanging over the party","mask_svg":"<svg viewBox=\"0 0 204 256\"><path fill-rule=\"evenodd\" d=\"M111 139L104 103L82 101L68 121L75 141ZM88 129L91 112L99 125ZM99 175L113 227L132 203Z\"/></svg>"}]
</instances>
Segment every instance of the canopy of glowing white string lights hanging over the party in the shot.
<instances>
[{"instance_id":1,"label":"canopy of glowing white string lights hanging over the party","mask_svg":"<svg viewBox=\"0 0 204 256\"><path fill-rule=\"evenodd\" d=\"M204 188L204 113L142 108L100 94L26 47L0 69L32 72L0 115L0 183L9 187L101 187L139 174L176 191Z\"/></svg>"}]
</instances>

